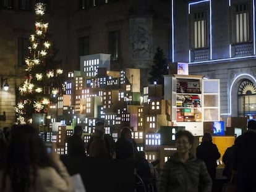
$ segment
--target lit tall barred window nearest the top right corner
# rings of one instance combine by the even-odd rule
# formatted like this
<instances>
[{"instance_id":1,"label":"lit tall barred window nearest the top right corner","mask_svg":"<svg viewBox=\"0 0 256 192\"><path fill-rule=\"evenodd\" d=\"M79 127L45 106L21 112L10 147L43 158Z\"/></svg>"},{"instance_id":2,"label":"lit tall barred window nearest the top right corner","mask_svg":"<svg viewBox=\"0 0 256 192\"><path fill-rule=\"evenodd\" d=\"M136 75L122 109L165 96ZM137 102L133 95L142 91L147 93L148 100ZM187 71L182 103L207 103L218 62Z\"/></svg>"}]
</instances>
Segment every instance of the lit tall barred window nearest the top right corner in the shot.
<instances>
[{"instance_id":1,"label":"lit tall barred window nearest the top right corner","mask_svg":"<svg viewBox=\"0 0 256 192\"><path fill-rule=\"evenodd\" d=\"M236 43L249 41L248 4L236 6Z\"/></svg>"}]
</instances>

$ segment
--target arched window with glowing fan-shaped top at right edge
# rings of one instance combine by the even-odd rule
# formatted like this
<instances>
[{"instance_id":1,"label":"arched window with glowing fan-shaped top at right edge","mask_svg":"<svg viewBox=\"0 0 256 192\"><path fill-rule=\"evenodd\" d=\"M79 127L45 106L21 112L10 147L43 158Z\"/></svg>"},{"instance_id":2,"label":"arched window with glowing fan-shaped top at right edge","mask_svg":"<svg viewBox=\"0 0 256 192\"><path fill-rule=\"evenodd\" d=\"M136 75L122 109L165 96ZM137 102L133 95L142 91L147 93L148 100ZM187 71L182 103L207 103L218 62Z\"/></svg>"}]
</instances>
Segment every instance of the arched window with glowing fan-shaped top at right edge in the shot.
<instances>
[{"instance_id":1,"label":"arched window with glowing fan-shaped top at right edge","mask_svg":"<svg viewBox=\"0 0 256 192\"><path fill-rule=\"evenodd\" d=\"M254 118L256 116L256 88L250 80L244 80L239 85L238 93L238 117Z\"/></svg>"}]
</instances>

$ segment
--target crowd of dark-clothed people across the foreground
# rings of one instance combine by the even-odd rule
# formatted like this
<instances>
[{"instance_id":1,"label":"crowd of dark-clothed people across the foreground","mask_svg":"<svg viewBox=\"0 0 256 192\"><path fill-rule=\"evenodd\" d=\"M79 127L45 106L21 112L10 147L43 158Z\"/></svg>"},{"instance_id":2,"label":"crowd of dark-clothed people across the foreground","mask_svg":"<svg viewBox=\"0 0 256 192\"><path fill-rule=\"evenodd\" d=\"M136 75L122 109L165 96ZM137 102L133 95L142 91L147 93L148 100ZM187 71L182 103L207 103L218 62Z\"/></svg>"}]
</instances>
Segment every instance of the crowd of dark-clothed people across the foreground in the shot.
<instances>
[{"instance_id":1,"label":"crowd of dark-clothed people across the foreground","mask_svg":"<svg viewBox=\"0 0 256 192\"><path fill-rule=\"evenodd\" d=\"M223 175L233 181L237 191L256 191L256 121L248 122L248 130L237 137L223 155ZM216 160L220 152L211 133L205 133L195 154L191 152L194 136L187 130L176 133L176 149L164 163L160 173L138 151L129 127L121 130L116 142L105 134L104 122L97 122L95 132L85 148L82 127L77 125L67 139L68 156L103 159L127 159L134 162L135 174L151 183L158 192L211 192L216 179ZM14 125L0 131L0 191L75 191L71 177L56 146L46 150L38 131L31 125ZM139 191L139 190L137 190Z\"/></svg>"}]
</instances>

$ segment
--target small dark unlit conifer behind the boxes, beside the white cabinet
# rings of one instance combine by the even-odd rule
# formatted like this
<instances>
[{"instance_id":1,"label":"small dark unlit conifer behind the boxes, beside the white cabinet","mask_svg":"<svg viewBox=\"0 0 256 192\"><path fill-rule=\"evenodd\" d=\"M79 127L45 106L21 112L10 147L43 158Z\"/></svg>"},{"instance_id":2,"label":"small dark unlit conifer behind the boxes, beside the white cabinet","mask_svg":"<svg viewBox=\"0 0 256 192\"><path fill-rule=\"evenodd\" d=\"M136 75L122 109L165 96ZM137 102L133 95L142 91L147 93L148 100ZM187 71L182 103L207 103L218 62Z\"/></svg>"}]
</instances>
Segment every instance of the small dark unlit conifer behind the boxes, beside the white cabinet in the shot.
<instances>
[{"instance_id":1,"label":"small dark unlit conifer behind the boxes, beside the white cabinet","mask_svg":"<svg viewBox=\"0 0 256 192\"><path fill-rule=\"evenodd\" d=\"M166 63L166 57L163 54L163 49L160 49L160 47L156 48L153 63L148 81L151 84L156 81L158 85L163 85L163 75L168 74L168 64Z\"/></svg>"}]
</instances>

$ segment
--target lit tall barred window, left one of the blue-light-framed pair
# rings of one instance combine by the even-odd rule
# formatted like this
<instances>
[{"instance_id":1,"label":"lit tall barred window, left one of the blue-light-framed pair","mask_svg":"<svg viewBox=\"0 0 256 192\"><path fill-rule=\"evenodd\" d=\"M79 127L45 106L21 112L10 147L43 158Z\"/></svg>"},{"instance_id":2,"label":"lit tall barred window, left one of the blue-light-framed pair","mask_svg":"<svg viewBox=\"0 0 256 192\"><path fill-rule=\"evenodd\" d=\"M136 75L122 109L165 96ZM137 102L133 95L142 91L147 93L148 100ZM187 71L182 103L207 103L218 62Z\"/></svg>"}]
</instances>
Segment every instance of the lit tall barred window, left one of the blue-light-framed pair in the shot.
<instances>
[{"instance_id":1,"label":"lit tall barred window, left one of the blue-light-framed pair","mask_svg":"<svg viewBox=\"0 0 256 192\"><path fill-rule=\"evenodd\" d=\"M194 14L194 48L205 48L207 46L207 27L205 12Z\"/></svg>"}]
</instances>

